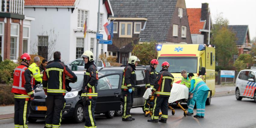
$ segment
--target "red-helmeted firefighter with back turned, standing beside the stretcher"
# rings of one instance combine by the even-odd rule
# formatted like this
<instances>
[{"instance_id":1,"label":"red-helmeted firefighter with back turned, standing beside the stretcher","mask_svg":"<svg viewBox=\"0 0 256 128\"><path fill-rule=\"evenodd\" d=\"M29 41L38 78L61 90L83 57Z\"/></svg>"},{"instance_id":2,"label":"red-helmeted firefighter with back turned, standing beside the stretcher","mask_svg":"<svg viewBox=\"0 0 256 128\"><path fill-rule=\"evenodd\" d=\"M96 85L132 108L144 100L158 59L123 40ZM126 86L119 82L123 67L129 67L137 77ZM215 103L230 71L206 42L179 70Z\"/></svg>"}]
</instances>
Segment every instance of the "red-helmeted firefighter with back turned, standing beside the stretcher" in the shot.
<instances>
[{"instance_id":1,"label":"red-helmeted firefighter with back turned, standing beside the stretcher","mask_svg":"<svg viewBox=\"0 0 256 128\"><path fill-rule=\"evenodd\" d=\"M148 122L162 122L166 123L168 118L168 99L170 97L170 92L173 84L173 75L168 72L168 67L170 64L165 61L162 64L162 70L157 75L157 80L152 89L152 95L155 95L153 103L153 115ZM161 120L159 118L159 110L161 108L162 116Z\"/></svg>"}]
</instances>

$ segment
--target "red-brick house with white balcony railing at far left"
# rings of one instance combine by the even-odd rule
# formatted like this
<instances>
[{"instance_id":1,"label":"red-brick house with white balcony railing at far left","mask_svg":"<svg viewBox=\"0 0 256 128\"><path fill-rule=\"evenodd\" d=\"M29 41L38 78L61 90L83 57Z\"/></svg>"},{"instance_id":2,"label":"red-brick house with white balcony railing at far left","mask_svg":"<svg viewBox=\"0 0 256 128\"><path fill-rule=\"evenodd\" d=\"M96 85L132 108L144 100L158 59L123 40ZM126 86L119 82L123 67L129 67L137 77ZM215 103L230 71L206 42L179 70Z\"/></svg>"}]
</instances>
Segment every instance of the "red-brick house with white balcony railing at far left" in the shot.
<instances>
[{"instance_id":1,"label":"red-brick house with white balcony railing at far left","mask_svg":"<svg viewBox=\"0 0 256 128\"><path fill-rule=\"evenodd\" d=\"M30 21L24 15L24 0L0 0L0 54L2 60L17 62L23 53L30 53Z\"/></svg>"}]
</instances>

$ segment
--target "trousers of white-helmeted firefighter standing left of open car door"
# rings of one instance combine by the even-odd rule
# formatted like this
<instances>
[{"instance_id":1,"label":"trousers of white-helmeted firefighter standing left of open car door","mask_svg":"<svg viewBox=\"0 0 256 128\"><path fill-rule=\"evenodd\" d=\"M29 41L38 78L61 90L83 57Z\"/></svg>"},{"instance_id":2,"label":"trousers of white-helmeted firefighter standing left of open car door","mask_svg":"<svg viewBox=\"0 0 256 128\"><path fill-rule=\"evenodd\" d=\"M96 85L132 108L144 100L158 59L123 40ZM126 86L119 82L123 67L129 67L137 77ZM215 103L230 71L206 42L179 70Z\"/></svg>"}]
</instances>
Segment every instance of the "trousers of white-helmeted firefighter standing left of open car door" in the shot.
<instances>
[{"instance_id":1,"label":"trousers of white-helmeted firefighter standing left of open car door","mask_svg":"<svg viewBox=\"0 0 256 128\"><path fill-rule=\"evenodd\" d=\"M85 128L96 128L96 121L94 117L94 111L96 108L97 99L89 99L90 105L83 106L84 117L85 117Z\"/></svg>"}]
</instances>

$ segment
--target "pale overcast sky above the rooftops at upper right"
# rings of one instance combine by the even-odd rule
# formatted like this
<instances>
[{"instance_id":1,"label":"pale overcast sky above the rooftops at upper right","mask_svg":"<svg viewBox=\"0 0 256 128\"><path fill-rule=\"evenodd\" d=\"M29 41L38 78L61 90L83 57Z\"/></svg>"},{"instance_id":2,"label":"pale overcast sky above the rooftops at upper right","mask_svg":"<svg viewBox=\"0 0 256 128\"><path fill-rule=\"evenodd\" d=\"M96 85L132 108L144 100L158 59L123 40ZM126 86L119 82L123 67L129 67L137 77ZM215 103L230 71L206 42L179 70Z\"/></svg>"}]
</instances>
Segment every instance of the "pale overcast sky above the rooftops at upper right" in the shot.
<instances>
[{"instance_id":1,"label":"pale overcast sky above the rooftops at upper right","mask_svg":"<svg viewBox=\"0 0 256 128\"><path fill-rule=\"evenodd\" d=\"M186 8L201 8L201 3L208 3L213 20L222 12L223 17L229 20L229 25L249 25L250 38L256 37L256 0L185 1Z\"/></svg>"}]
</instances>

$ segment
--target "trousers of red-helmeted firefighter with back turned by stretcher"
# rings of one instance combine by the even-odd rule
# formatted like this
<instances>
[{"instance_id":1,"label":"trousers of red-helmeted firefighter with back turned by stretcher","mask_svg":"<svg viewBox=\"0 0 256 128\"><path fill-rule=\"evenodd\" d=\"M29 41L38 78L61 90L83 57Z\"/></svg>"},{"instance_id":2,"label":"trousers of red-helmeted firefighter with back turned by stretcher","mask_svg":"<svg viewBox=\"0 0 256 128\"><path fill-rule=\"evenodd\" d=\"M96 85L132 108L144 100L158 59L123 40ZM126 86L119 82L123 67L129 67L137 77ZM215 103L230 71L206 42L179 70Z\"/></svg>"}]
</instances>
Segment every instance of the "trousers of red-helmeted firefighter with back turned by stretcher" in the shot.
<instances>
[{"instance_id":1,"label":"trousers of red-helmeted firefighter with back turned by stretcher","mask_svg":"<svg viewBox=\"0 0 256 128\"><path fill-rule=\"evenodd\" d=\"M161 119L167 120L167 118L168 118L168 100L169 100L169 97L155 96L154 103L153 103L153 106L154 106L153 107L153 115L151 116L151 120L158 120L160 108L162 111Z\"/></svg>"}]
</instances>

